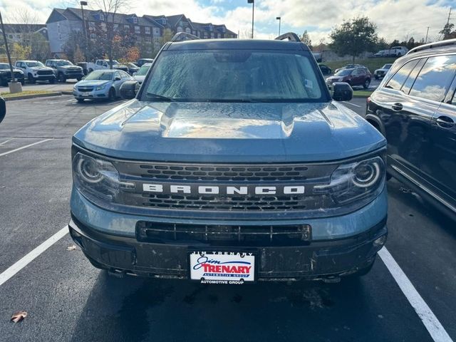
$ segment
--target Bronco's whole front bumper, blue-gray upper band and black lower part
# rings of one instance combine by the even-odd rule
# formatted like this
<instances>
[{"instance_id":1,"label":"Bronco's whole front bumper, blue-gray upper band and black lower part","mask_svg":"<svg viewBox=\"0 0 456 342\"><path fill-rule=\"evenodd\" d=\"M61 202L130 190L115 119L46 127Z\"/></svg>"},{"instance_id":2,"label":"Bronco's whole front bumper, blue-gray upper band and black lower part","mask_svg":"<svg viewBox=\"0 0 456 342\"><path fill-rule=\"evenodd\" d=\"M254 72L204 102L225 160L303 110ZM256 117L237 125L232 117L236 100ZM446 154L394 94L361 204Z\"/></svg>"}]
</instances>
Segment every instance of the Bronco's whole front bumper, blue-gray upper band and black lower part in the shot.
<instances>
[{"instance_id":1,"label":"Bronco's whole front bumper, blue-gray upper band and black lower part","mask_svg":"<svg viewBox=\"0 0 456 342\"><path fill-rule=\"evenodd\" d=\"M206 249L216 248L192 241L138 241L135 230L138 221L160 222L160 219L101 209L88 202L74 189L71 209L72 219L69 227L73 240L92 264L115 273L189 279L189 249L202 246ZM371 204L351 214L302 219L301 224L308 223L312 227L310 242L297 246L274 244L252 247L257 252L257 279L331 279L352 274L369 266L385 243L386 212L384 190ZM185 223L199 222L185 220ZM283 220L253 222L266 225L286 223ZM234 223L225 221L224 224ZM219 249L230 252L230 247L226 245Z\"/></svg>"}]
</instances>

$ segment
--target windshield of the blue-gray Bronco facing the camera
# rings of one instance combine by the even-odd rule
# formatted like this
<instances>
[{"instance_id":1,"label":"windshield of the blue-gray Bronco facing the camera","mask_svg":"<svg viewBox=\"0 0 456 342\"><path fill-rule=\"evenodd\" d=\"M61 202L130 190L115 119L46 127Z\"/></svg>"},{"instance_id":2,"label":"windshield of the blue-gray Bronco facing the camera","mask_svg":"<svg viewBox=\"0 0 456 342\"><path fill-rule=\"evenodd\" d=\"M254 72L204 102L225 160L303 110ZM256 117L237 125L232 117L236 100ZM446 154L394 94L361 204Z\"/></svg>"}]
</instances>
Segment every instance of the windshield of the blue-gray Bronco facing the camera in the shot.
<instances>
[{"instance_id":1,"label":"windshield of the blue-gray Bronco facing the camera","mask_svg":"<svg viewBox=\"0 0 456 342\"><path fill-rule=\"evenodd\" d=\"M321 102L323 97L304 53L165 51L157 62L142 100Z\"/></svg>"}]
</instances>

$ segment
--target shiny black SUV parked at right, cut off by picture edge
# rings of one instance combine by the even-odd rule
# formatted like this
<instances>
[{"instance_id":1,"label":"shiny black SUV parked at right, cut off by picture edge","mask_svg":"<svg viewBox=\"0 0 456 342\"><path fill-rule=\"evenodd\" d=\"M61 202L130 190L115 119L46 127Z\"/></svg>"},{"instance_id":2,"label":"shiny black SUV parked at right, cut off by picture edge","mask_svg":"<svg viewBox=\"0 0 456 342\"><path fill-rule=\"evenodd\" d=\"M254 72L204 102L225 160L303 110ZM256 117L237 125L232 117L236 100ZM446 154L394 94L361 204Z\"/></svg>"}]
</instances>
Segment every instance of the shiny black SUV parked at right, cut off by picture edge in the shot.
<instances>
[{"instance_id":1,"label":"shiny black SUV parked at right, cut off by picture edge","mask_svg":"<svg viewBox=\"0 0 456 342\"><path fill-rule=\"evenodd\" d=\"M456 218L456 39L398 59L368 99L388 140L388 173Z\"/></svg>"}]
</instances>

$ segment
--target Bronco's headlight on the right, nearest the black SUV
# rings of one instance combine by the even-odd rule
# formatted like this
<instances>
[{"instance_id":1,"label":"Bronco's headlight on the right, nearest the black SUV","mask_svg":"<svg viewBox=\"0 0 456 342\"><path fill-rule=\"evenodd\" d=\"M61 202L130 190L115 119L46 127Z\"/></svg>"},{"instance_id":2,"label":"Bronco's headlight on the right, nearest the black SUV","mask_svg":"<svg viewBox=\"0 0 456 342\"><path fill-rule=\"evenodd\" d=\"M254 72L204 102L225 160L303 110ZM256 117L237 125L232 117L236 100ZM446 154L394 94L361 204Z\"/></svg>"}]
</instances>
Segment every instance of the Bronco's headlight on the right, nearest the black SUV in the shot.
<instances>
[{"instance_id":1,"label":"Bronco's headlight on the right, nearest the black SUV","mask_svg":"<svg viewBox=\"0 0 456 342\"><path fill-rule=\"evenodd\" d=\"M339 205L374 199L385 185L385 162L383 158L371 157L366 160L340 165L331 175L328 185L317 185L314 192L328 194Z\"/></svg>"}]
</instances>

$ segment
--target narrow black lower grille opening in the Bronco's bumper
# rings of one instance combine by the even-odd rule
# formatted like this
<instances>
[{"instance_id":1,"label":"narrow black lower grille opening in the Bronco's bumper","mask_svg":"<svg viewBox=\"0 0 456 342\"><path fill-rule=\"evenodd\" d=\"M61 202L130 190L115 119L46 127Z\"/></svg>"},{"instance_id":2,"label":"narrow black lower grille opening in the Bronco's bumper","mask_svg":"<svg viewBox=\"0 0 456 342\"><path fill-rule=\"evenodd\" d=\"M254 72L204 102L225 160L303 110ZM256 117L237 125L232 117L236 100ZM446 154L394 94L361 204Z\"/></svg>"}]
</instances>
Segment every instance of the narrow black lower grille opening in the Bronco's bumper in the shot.
<instances>
[{"instance_id":1,"label":"narrow black lower grille opening in the Bronco's bumper","mask_svg":"<svg viewBox=\"0 0 456 342\"><path fill-rule=\"evenodd\" d=\"M200 242L212 246L271 246L309 244L311 226L232 226L204 224L167 224L139 221L136 237L141 242Z\"/></svg>"}]
</instances>

